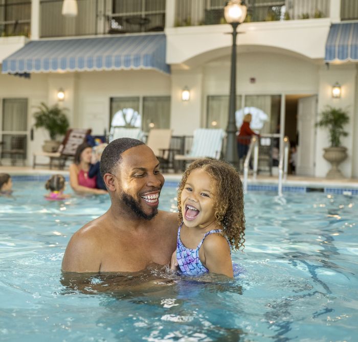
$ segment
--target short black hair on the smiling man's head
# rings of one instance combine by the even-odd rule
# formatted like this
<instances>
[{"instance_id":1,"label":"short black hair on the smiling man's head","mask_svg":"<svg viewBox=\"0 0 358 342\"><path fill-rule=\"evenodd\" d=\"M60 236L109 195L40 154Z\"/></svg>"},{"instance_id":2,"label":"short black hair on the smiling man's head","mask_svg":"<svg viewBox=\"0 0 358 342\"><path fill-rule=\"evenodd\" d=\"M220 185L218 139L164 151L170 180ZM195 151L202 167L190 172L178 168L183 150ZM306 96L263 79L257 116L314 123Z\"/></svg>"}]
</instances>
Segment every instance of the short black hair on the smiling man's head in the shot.
<instances>
[{"instance_id":1,"label":"short black hair on the smiling man's head","mask_svg":"<svg viewBox=\"0 0 358 342\"><path fill-rule=\"evenodd\" d=\"M115 168L121 162L122 153L132 147L144 145L144 143L132 138L119 138L109 143L103 150L101 156L101 176L103 178L105 173L114 173Z\"/></svg>"}]
</instances>

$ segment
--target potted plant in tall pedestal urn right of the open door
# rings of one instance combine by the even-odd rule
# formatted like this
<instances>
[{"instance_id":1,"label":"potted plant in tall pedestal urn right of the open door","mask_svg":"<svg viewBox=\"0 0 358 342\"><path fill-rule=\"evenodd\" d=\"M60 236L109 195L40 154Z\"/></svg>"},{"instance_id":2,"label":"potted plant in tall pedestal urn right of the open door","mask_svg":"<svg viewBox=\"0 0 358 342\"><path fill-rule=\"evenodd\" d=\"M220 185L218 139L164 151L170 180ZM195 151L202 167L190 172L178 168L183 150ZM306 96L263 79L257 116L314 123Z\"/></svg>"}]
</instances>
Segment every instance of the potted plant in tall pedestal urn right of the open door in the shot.
<instances>
[{"instance_id":1,"label":"potted plant in tall pedestal urn right of the open door","mask_svg":"<svg viewBox=\"0 0 358 342\"><path fill-rule=\"evenodd\" d=\"M321 120L316 124L318 127L328 129L329 141L331 146L324 148L323 157L331 163L331 169L328 171L327 178L343 178L338 165L347 158L347 148L341 145L341 137L348 133L343 130L343 126L348 124L349 116L347 111L341 108L327 106L321 112Z\"/></svg>"}]
</instances>

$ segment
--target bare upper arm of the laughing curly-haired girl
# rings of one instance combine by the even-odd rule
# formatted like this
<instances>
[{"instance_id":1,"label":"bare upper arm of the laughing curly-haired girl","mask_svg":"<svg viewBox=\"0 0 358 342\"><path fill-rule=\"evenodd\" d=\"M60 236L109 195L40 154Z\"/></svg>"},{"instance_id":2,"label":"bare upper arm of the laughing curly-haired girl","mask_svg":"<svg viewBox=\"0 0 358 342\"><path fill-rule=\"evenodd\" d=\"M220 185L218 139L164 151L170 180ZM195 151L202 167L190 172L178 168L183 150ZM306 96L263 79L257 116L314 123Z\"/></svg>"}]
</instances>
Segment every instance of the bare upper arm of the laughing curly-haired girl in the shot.
<instances>
[{"instance_id":1,"label":"bare upper arm of the laughing curly-haired girl","mask_svg":"<svg viewBox=\"0 0 358 342\"><path fill-rule=\"evenodd\" d=\"M230 246L225 237L219 234L210 234L204 240L202 248L204 258L203 260L200 258L200 260L210 273L234 278Z\"/></svg>"}]
</instances>

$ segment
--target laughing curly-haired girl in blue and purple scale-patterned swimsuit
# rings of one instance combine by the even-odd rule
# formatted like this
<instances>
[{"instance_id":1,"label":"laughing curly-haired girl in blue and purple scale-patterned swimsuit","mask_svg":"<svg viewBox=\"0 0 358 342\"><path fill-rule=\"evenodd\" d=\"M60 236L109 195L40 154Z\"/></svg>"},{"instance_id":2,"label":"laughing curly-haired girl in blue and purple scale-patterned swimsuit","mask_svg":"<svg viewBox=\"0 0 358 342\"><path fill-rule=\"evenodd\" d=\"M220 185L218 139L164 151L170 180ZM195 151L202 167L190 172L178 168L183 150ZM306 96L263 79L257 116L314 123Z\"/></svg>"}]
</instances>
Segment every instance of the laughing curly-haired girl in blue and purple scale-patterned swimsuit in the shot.
<instances>
[{"instance_id":1,"label":"laughing curly-haired girl in blue and purple scale-patterned swimsuit","mask_svg":"<svg viewBox=\"0 0 358 342\"><path fill-rule=\"evenodd\" d=\"M178 228L171 269L183 275L217 273L233 278L231 249L244 246L242 183L230 164L198 159L178 189Z\"/></svg>"}]
</instances>

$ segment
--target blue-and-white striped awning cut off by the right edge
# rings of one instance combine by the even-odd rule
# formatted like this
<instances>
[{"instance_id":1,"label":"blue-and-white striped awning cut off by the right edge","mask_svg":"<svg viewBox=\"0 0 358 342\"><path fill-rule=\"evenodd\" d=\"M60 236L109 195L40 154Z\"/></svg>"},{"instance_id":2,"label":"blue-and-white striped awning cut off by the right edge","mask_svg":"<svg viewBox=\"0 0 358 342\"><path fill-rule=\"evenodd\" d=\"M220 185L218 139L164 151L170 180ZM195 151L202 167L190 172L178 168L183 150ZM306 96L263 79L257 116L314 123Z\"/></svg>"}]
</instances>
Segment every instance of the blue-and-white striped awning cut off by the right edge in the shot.
<instances>
[{"instance_id":1,"label":"blue-and-white striped awning cut off by the right edge","mask_svg":"<svg viewBox=\"0 0 358 342\"><path fill-rule=\"evenodd\" d=\"M358 61L358 22L331 25L325 61Z\"/></svg>"}]
</instances>

